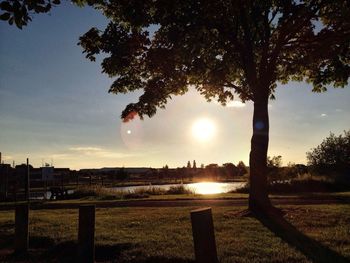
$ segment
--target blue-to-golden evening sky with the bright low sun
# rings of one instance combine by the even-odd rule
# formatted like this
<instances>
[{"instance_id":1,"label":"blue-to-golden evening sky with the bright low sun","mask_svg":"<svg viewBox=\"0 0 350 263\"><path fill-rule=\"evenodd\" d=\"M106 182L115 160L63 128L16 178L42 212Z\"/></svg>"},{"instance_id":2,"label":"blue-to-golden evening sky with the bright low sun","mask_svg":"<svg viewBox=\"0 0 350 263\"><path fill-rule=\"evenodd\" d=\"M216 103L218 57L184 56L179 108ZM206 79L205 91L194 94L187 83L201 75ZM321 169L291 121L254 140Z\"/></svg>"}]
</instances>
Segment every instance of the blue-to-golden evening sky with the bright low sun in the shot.
<instances>
[{"instance_id":1,"label":"blue-to-golden evening sky with the bright low sun","mask_svg":"<svg viewBox=\"0 0 350 263\"><path fill-rule=\"evenodd\" d=\"M248 164L252 103L223 107L195 90L174 97L152 118L123 123L140 92L109 94L113 79L77 45L107 21L64 2L23 30L0 22L0 151L5 163L71 169ZM278 85L271 101L269 156L306 163L306 152L350 126L350 89L312 93L304 82ZM202 121L201 121L202 120ZM198 128L199 127L199 128ZM198 130L199 129L199 130ZM202 131L201 131L202 130ZM207 133L203 133L206 130Z\"/></svg>"}]
</instances>

